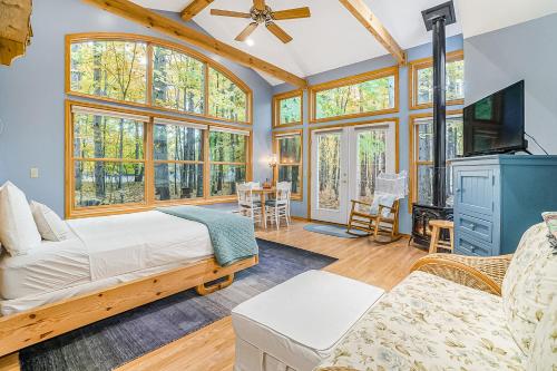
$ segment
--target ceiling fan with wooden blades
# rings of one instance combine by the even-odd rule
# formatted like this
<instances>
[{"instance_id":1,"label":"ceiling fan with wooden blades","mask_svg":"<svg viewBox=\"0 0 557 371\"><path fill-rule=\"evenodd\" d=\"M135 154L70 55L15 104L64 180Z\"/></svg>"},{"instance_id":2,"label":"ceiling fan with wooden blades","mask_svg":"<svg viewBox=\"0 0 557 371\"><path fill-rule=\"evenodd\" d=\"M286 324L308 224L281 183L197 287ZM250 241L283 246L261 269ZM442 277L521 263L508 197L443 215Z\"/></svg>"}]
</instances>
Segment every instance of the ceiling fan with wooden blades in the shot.
<instances>
[{"instance_id":1,"label":"ceiling fan with wooden blades","mask_svg":"<svg viewBox=\"0 0 557 371\"><path fill-rule=\"evenodd\" d=\"M265 4L265 0L253 0L253 7L250 9L248 13L232 10L211 9L211 14L252 19L252 22L247 25L247 27L244 28L238 36L236 36L236 41L244 41L250 35L252 35L253 31L255 31L257 26L265 23L267 30L270 30L271 33L276 36L284 43L292 41L292 37L280 28L274 21L311 17L310 8L307 7L273 11Z\"/></svg>"}]
</instances>

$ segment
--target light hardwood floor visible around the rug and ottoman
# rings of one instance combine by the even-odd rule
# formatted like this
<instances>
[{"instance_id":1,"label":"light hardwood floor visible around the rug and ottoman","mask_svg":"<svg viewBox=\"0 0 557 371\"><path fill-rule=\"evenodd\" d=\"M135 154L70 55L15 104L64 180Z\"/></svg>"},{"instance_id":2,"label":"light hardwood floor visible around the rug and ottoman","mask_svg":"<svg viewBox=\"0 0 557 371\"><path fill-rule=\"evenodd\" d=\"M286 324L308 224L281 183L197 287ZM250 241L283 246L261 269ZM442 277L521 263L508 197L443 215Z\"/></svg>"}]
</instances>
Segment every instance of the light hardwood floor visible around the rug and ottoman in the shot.
<instances>
[{"instance_id":1,"label":"light hardwood floor visible around the rug and ottoman","mask_svg":"<svg viewBox=\"0 0 557 371\"><path fill-rule=\"evenodd\" d=\"M305 231L306 222L290 228L257 231L257 237L338 257L325 270L359 281L392 289L409 273L410 266L427 253L408 246L402 238L380 245L370 238L338 238ZM231 318L224 318L187 336L162 346L120 368L131 370L231 371L234 363L234 331ZM0 358L0 371L19 370L18 357Z\"/></svg>"}]
</instances>

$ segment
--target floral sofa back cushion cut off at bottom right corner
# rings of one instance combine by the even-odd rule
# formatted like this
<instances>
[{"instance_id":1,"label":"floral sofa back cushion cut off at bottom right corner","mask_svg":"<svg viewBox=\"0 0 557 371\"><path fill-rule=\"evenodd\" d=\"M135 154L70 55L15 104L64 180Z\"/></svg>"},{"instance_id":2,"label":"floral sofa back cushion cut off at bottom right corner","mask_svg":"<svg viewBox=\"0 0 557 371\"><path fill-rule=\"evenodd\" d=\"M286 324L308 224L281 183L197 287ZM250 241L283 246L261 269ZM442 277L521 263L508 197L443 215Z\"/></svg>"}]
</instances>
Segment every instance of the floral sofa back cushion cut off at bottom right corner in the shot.
<instances>
[{"instance_id":1,"label":"floral sofa back cushion cut off at bottom right corner","mask_svg":"<svg viewBox=\"0 0 557 371\"><path fill-rule=\"evenodd\" d=\"M528 371L557 370L557 297L536 328Z\"/></svg>"}]
</instances>

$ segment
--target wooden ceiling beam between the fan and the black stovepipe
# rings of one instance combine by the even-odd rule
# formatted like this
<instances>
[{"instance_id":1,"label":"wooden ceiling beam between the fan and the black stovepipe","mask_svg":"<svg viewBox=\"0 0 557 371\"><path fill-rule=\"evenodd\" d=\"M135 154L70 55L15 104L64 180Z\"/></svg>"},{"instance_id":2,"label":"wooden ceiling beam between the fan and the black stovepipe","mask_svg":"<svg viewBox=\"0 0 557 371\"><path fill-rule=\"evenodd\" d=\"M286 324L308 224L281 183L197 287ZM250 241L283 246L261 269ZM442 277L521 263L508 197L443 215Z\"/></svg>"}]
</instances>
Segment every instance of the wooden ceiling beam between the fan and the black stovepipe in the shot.
<instances>
[{"instance_id":1,"label":"wooden ceiling beam between the fan and the black stovepipe","mask_svg":"<svg viewBox=\"0 0 557 371\"><path fill-rule=\"evenodd\" d=\"M363 0L339 0L360 23L397 59L399 65L405 65L407 53L397 43L394 38L384 28L383 23L373 14Z\"/></svg>"}]
</instances>

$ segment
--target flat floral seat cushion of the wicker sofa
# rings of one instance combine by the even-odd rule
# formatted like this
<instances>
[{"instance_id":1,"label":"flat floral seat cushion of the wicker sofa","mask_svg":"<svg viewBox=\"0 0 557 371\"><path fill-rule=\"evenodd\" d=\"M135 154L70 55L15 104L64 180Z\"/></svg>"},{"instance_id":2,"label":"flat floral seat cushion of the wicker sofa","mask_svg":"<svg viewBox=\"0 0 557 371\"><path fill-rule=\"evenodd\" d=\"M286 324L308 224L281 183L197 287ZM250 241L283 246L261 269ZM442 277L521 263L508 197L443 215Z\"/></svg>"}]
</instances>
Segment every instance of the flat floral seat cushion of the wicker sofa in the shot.
<instances>
[{"instance_id":1,"label":"flat floral seat cushion of the wicker sofa","mask_svg":"<svg viewBox=\"0 0 557 371\"><path fill-rule=\"evenodd\" d=\"M321 367L524 370L501 297L414 272L371 307Z\"/></svg>"}]
</instances>

